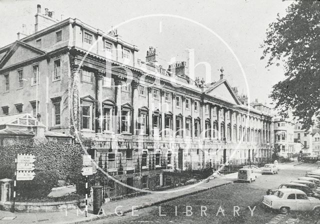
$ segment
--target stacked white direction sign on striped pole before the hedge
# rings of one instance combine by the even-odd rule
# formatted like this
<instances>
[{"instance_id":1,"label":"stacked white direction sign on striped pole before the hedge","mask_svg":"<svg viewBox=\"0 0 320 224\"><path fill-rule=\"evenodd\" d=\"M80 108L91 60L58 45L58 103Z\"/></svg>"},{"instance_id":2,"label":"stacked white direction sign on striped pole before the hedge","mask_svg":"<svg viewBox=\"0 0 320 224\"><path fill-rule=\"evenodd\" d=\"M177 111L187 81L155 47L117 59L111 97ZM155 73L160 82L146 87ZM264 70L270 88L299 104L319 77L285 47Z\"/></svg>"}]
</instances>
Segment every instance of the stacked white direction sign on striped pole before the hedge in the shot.
<instances>
[{"instance_id":1,"label":"stacked white direction sign on striped pole before the hedge","mask_svg":"<svg viewBox=\"0 0 320 224\"><path fill-rule=\"evenodd\" d=\"M15 188L16 180L32 180L35 173L32 171L35 169L33 162L35 161L35 156L27 153L19 153L15 159L15 178L13 182L13 205L12 212L14 212L15 205Z\"/></svg>"}]
</instances>

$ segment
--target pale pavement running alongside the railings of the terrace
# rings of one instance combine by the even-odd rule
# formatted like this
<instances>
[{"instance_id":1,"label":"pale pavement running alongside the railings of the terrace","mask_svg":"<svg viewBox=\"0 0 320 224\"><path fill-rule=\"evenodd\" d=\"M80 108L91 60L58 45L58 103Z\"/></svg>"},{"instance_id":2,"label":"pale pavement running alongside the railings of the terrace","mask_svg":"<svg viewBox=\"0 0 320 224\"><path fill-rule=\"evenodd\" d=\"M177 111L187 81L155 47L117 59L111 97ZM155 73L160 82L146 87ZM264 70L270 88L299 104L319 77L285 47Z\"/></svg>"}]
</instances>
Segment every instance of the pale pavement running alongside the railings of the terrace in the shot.
<instances>
[{"instance_id":1,"label":"pale pavement running alongside the railings of the terrace","mask_svg":"<svg viewBox=\"0 0 320 224\"><path fill-rule=\"evenodd\" d=\"M179 186L166 191L154 191L142 196L127 199L110 201L103 203L101 214L92 213L93 207L88 207L88 214L85 217L84 209L61 210L54 212L9 212L0 210L0 224L10 223L84 223L91 222L110 216L115 216L121 212L127 213L133 210L156 205L169 200L173 200L186 195L198 193L207 189L232 183L236 180L237 173L221 175L208 182L199 182L194 185ZM117 213L116 213L116 212ZM134 212L134 211L133 211Z\"/></svg>"}]
</instances>

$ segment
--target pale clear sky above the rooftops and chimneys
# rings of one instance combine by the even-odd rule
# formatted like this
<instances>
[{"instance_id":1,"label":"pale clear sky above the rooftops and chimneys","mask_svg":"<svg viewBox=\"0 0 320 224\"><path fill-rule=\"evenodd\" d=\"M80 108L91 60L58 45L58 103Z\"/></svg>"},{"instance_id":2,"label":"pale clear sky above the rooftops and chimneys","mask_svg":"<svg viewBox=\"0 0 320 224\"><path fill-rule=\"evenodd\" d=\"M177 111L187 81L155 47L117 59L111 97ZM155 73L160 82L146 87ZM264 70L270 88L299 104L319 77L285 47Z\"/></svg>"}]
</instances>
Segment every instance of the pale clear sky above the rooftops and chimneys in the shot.
<instances>
[{"instance_id":1,"label":"pale clear sky above the rooftops and chimneys","mask_svg":"<svg viewBox=\"0 0 320 224\"><path fill-rule=\"evenodd\" d=\"M281 0L0 0L0 47L16 40L22 23L34 29L36 5L56 18L78 18L101 30L118 26L121 39L136 45L144 60L149 46L158 62L187 61L194 49L195 76L206 82L224 78L251 101L272 102L272 86L284 78L283 66L260 60L265 32L292 1ZM123 24L122 24L123 23ZM232 53L233 52L233 53ZM206 64L206 66L204 65ZM240 64L240 65L239 65ZM210 69L208 69L208 67ZM241 70L243 68L243 72Z\"/></svg>"}]
</instances>

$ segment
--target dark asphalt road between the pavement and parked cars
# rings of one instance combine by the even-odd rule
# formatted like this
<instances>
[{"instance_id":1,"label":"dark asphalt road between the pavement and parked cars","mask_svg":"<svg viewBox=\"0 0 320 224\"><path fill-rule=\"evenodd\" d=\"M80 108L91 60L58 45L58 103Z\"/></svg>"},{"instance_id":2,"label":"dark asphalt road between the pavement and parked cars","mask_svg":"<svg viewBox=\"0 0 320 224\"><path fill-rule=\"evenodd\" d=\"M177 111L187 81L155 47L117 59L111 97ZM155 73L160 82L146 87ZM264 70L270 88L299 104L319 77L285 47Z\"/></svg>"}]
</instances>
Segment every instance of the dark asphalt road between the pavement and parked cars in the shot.
<instances>
[{"instance_id":1,"label":"dark asphalt road between the pavement and parked cars","mask_svg":"<svg viewBox=\"0 0 320 224\"><path fill-rule=\"evenodd\" d=\"M280 165L278 174L258 175L252 183L234 182L94 223L317 223L318 217L309 213L279 215L261 206L268 188L303 176L317 165L297 162Z\"/></svg>"}]
</instances>

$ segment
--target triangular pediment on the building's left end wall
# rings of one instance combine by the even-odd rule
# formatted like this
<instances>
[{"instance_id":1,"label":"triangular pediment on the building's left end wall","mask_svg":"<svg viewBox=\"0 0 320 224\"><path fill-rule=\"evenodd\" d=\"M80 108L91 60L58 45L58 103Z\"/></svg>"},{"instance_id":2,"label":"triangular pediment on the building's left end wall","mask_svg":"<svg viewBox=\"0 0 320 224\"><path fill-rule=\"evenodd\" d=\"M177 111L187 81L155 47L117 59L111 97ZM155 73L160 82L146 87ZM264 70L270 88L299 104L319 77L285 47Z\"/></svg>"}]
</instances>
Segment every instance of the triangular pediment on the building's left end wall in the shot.
<instances>
[{"instance_id":1,"label":"triangular pediment on the building's left end wall","mask_svg":"<svg viewBox=\"0 0 320 224\"><path fill-rule=\"evenodd\" d=\"M6 68L44 55L43 50L17 40L0 59L0 68Z\"/></svg>"}]
</instances>

